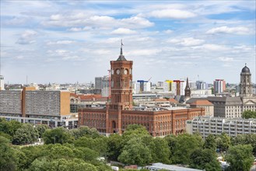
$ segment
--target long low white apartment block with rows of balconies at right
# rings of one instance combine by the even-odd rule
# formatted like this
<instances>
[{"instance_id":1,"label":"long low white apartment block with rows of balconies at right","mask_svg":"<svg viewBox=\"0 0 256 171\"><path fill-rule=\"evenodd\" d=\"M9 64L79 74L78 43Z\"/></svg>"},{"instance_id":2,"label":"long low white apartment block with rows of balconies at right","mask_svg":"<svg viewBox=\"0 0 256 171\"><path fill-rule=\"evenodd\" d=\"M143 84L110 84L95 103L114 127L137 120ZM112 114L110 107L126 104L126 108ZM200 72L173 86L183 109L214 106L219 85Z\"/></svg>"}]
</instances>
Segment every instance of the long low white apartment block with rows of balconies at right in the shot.
<instances>
[{"instance_id":1,"label":"long low white apartment block with rows of balconies at right","mask_svg":"<svg viewBox=\"0 0 256 171\"><path fill-rule=\"evenodd\" d=\"M256 134L256 119L195 117L187 120L186 131L188 134L199 132L203 138L223 132L230 137L236 137L237 134Z\"/></svg>"}]
</instances>

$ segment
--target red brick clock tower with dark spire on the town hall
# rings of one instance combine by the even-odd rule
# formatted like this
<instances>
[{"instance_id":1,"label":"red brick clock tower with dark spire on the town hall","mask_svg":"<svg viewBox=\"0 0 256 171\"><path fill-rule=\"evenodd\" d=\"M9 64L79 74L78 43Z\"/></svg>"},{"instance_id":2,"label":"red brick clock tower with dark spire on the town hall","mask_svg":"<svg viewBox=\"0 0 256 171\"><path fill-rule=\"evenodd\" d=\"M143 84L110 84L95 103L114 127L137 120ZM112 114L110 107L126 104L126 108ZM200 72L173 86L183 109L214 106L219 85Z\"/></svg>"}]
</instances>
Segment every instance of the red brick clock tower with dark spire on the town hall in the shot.
<instances>
[{"instance_id":1,"label":"red brick clock tower with dark spire on the town hall","mask_svg":"<svg viewBox=\"0 0 256 171\"><path fill-rule=\"evenodd\" d=\"M122 111L132 110L132 64L123 55L121 43L120 55L111 65L111 99L106 109L106 133L122 134Z\"/></svg>"}]
</instances>

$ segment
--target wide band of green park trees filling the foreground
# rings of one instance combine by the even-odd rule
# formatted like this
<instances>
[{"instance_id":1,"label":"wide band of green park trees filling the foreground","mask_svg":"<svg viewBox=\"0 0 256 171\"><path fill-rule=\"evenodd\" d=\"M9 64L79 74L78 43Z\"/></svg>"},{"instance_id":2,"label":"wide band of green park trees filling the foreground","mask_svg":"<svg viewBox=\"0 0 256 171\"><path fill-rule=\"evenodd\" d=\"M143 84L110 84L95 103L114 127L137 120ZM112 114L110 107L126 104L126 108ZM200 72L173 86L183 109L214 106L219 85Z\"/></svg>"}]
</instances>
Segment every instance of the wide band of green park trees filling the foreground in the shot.
<instances>
[{"instance_id":1,"label":"wide band of green park trees filling the foreground","mask_svg":"<svg viewBox=\"0 0 256 171\"><path fill-rule=\"evenodd\" d=\"M44 145L31 145L38 138L44 139ZM106 137L89 127L50 129L0 119L0 170L111 170L107 161L139 166L163 162L221 170L216 148L226 152L229 170L249 170L256 154L256 134L236 138L210 134L205 140L200 134L153 138L145 127L132 124L124 134Z\"/></svg>"}]
</instances>

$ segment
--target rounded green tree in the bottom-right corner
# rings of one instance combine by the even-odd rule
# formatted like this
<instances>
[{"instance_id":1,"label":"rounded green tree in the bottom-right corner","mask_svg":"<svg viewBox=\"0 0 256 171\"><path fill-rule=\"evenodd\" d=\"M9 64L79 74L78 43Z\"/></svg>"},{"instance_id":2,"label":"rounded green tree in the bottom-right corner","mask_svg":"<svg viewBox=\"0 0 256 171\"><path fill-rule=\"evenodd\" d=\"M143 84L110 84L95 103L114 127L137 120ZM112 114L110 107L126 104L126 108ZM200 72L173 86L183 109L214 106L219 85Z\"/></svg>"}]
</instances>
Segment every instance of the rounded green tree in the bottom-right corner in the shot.
<instances>
[{"instance_id":1,"label":"rounded green tree in the bottom-right corner","mask_svg":"<svg viewBox=\"0 0 256 171\"><path fill-rule=\"evenodd\" d=\"M254 162L251 145L231 146L226 153L225 159L230 163L230 169L234 171L249 171Z\"/></svg>"}]
</instances>

